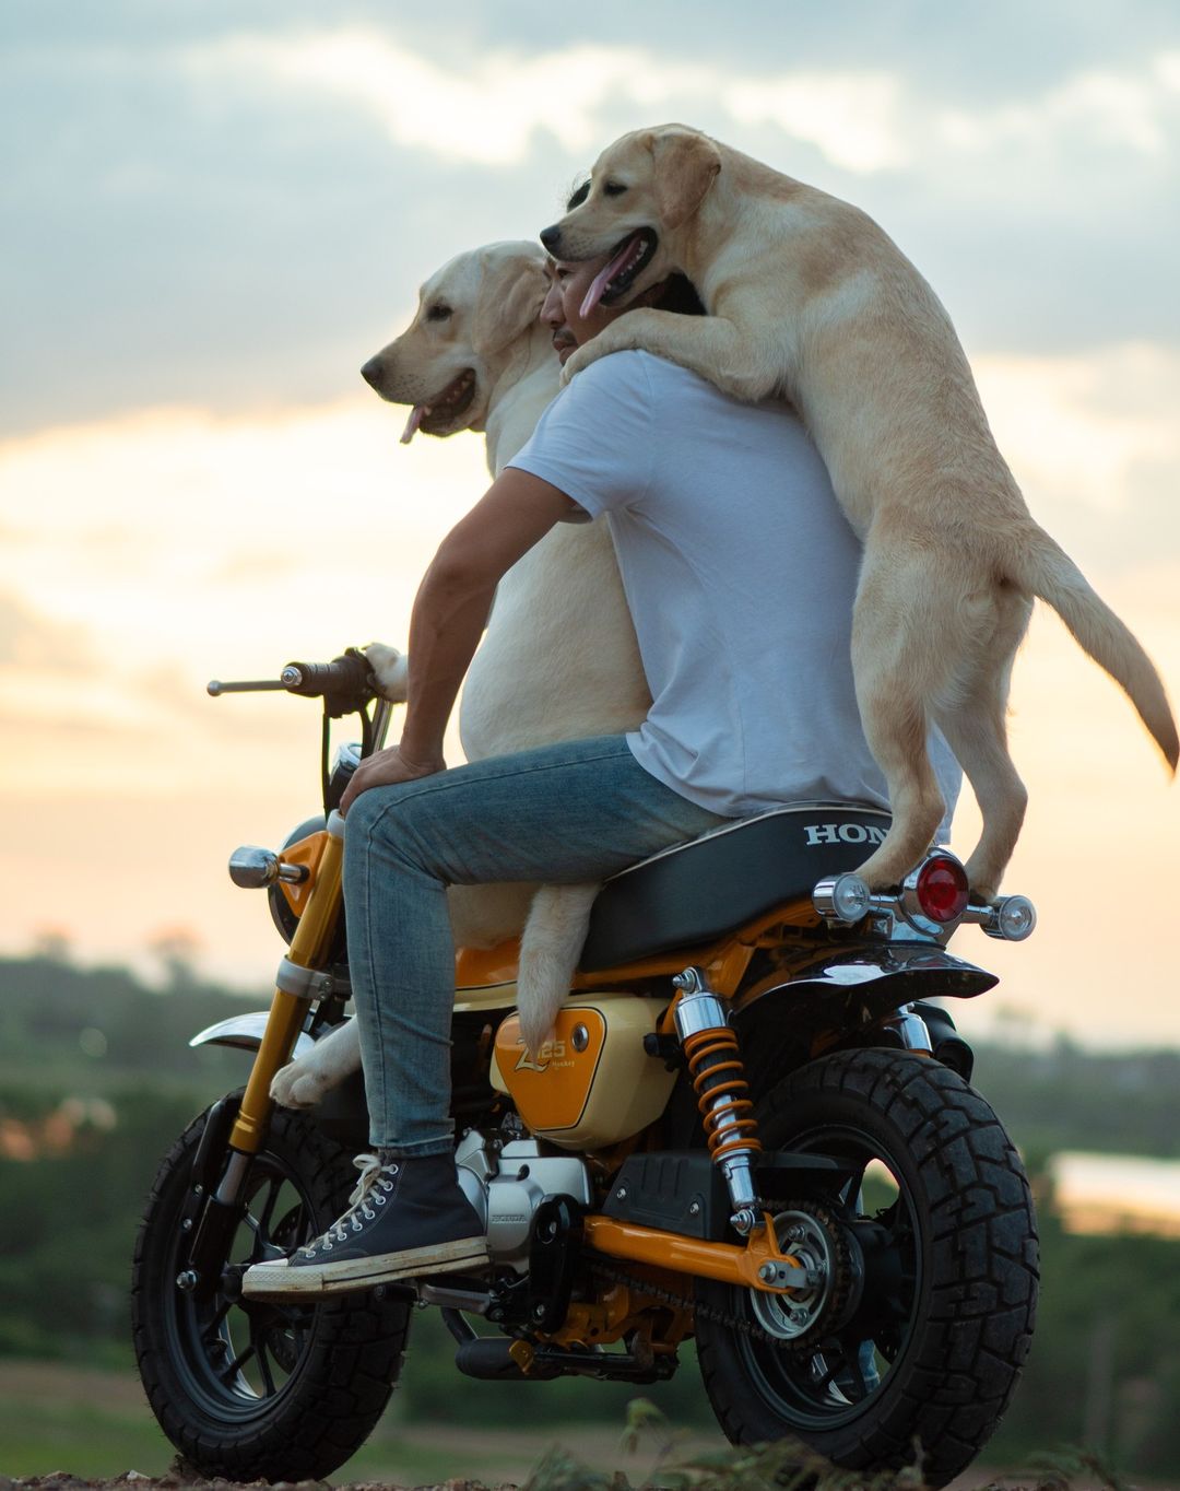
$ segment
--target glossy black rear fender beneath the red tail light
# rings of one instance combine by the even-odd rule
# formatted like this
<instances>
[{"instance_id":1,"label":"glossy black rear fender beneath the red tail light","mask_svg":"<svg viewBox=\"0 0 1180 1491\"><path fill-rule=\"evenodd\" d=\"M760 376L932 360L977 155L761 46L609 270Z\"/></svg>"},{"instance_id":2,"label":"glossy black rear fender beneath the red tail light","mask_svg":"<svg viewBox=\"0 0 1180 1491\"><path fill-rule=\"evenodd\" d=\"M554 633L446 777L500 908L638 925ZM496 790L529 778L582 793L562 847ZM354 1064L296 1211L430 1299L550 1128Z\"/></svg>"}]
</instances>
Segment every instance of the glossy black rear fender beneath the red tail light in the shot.
<instances>
[{"instance_id":1,"label":"glossy black rear fender beneath the red tail light","mask_svg":"<svg viewBox=\"0 0 1180 1491\"><path fill-rule=\"evenodd\" d=\"M995 974L952 957L931 942L861 942L833 948L794 978L766 980L738 997L745 1014L772 994L800 1012L819 1008L861 1008L886 1014L915 999L973 999L998 984Z\"/></svg>"}]
</instances>

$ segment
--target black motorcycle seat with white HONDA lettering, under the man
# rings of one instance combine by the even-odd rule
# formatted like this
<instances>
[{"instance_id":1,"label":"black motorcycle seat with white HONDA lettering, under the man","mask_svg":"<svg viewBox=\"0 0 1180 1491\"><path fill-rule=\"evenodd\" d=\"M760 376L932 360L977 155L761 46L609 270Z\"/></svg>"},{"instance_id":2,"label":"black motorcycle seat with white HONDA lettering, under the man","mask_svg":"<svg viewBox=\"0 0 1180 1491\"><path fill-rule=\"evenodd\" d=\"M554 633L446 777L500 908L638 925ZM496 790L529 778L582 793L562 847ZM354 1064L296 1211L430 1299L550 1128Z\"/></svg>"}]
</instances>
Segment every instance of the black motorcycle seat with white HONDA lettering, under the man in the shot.
<instances>
[{"instance_id":1,"label":"black motorcycle seat with white HONDA lettering, under the man","mask_svg":"<svg viewBox=\"0 0 1180 1491\"><path fill-rule=\"evenodd\" d=\"M715 942L785 901L811 896L824 875L863 865L888 828L881 808L796 802L653 854L599 892L580 971Z\"/></svg>"}]
</instances>

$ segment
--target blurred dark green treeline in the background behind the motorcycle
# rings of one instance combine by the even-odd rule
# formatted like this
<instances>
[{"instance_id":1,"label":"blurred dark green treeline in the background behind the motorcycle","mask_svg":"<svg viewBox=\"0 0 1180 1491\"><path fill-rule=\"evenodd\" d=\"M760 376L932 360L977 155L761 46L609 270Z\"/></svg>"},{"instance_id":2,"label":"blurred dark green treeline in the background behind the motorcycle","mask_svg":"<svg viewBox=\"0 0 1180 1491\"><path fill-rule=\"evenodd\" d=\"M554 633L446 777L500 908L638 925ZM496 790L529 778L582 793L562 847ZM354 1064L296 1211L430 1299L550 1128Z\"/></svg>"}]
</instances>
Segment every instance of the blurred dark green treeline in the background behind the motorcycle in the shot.
<instances>
[{"instance_id":1,"label":"blurred dark green treeline in the background behind the motorcycle","mask_svg":"<svg viewBox=\"0 0 1180 1491\"><path fill-rule=\"evenodd\" d=\"M128 1260L159 1159L188 1120L244 1081L249 1056L189 1038L249 1008L183 959L167 987L58 957L0 962L0 1354L127 1367ZM1180 1053L977 1050L974 1085L1004 1118L1037 1185L1043 1291L1032 1358L989 1449L1015 1464L1088 1445L1125 1472L1180 1473L1180 1242L1065 1235L1047 1161L1059 1150L1180 1156ZM450 1337L422 1312L392 1412L472 1424L618 1422L636 1396L583 1379L457 1378ZM708 1424L691 1352L644 1388L679 1425ZM3 1469L3 1467L0 1467Z\"/></svg>"}]
</instances>

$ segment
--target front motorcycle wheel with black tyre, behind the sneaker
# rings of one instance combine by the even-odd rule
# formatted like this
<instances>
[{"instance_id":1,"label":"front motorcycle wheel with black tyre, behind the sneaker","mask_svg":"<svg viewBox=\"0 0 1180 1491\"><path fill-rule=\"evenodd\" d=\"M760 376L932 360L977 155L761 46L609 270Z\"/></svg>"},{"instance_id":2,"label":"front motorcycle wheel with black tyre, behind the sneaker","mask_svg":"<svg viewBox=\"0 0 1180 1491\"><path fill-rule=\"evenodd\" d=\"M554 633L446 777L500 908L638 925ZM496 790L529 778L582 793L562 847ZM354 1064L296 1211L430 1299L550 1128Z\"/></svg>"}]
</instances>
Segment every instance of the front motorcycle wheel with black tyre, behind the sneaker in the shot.
<instances>
[{"instance_id":1,"label":"front motorcycle wheel with black tyre, behind the sneaker","mask_svg":"<svg viewBox=\"0 0 1180 1491\"><path fill-rule=\"evenodd\" d=\"M410 1306L375 1293L319 1305L243 1300L226 1275L177 1288L182 1209L209 1114L176 1141L136 1239L131 1312L140 1376L159 1427L206 1476L320 1481L368 1437L401 1370ZM355 1172L304 1114L276 1108L246 1182L226 1264L291 1252L344 1211Z\"/></svg>"}]
</instances>

